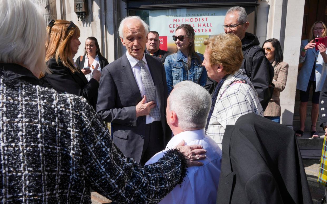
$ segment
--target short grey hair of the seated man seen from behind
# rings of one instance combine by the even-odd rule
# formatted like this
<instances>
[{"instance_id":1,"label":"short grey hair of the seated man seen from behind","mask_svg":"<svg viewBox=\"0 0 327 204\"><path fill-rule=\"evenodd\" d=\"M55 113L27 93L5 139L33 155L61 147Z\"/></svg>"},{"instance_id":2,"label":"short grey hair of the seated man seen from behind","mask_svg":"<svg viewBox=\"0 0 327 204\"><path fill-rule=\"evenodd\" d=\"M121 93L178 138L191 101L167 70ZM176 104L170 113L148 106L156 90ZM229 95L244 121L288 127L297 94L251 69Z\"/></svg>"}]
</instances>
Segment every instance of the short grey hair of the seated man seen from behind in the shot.
<instances>
[{"instance_id":1,"label":"short grey hair of the seated man seen from behind","mask_svg":"<svg viewBox=\"0 0 327 204\"><path fill-rule=\"evenodd\" d=\"M198 130L206 126L211 97L202 86L182 81L174 86L167 105L176 113L178 126L183 131Z\"/></svg>"}]
</instances>

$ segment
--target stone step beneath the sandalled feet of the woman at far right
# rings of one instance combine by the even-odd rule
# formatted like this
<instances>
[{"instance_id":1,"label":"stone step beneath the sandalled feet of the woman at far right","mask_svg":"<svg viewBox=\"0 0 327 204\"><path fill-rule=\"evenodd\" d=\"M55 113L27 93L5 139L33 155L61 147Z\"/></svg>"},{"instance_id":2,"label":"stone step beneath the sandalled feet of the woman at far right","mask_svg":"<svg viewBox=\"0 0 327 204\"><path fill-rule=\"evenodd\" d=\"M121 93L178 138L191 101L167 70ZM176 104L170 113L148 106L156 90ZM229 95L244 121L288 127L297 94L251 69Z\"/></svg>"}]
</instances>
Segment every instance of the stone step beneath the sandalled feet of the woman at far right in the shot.
<instances>
[{"instance_id":1,"label":"stone step beneath the sandalled feet of the woman at far right","mask_svg":"<svg viewBox=\"0 0 327 204\"><path fill-rule=\"evenodd\" d=\"M319 138L312 138L311 133L305 132L302 137L297 137L302 158L319 159L324 141L324 133L319 133Z\"/></svg>"}]
</instances>

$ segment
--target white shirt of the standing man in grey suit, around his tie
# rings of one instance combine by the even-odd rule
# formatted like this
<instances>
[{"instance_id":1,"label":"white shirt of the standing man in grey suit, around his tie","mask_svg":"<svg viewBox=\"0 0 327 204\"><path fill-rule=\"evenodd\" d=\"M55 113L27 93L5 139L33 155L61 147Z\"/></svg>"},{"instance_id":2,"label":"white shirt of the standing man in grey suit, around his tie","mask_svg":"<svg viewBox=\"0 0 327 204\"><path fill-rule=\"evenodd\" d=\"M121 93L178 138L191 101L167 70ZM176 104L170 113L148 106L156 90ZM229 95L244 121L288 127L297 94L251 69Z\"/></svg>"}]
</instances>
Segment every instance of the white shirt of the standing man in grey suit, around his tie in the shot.
<instances>
[{"instance_id":1,"label":"white shirt of the standing man in grey suit, around his tie","mask_svg":"<svg viewBox=\"0 0 327 204\"><path fill-rule=\"evenodd\" d=\"M145 89L144 89L144 86L143 86L143 81L142 81L142 76L141 76L141 67L137 64L140 60L138 60L138 59L130 56L127 51L126 51L126 56L127 56L128 61L129 61L130 67L132 68L132 72L134 74L134 78L136 80L136 84L139 87L141 96L143 98L144 95L146 95L146 94L145 94ZM144 61L146 68L149 70L149 66L147 65L147 62L146 62L146 59L145 59L145 54L143 55L142 60ZM150 72L150 70L149 70L149 72ZM156 96L156 99L158 101L158 96ZM157 105L158 105L158 103L157 103ZM160 111L160 107L159 106L158 106L158 108L159 108L159 111ZM159 117L158 119L156 119L156 118L152 118L149 115L147 115L146 116L145 123L146 124L149 124L149 123L151 123L153 121L156 121L156 120L160 121L161 120L161 117Z\"/></svg>"}]
</instances>

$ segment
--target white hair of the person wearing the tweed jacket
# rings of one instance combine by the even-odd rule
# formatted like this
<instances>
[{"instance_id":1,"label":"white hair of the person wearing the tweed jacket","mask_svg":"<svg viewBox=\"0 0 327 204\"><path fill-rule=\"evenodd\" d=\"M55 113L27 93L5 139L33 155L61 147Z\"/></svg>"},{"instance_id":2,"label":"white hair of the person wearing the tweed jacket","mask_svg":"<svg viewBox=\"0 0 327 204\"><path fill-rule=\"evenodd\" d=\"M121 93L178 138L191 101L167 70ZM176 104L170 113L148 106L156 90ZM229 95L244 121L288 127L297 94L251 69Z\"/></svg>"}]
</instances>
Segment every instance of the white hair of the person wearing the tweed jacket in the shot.
<instances>
[{"instance_id":1,"label":"white hair of the person wearing the tweed jacket","mask_svg":"<svg viewBox=\"0 0 327 204\"><path fill-rule=\"evenodd\" d=\"M49 73L45 64L46 23L30 0L0 0L0 62Z\"/></svg>"}]
</instances>

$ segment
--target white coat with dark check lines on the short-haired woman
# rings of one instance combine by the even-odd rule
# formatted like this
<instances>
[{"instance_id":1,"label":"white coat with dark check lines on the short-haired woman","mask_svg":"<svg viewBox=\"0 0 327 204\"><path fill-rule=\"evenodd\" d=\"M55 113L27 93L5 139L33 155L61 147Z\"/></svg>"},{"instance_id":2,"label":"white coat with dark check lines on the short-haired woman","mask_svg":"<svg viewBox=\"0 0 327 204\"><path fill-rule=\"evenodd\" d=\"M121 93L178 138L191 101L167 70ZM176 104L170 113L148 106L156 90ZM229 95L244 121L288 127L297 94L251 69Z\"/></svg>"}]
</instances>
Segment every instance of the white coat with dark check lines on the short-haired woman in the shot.
<instances>
[{"instance_id":1,"label":"white coat with dark check lines on the short-haired woman","mask_svg":"<svg viewBox=\"0 0 327 204\"><path fill-rule=\"evenodd\" d=\"M237 80L244 80L247 83L232 84ZM235 71L227 76L219 90L207 135L221 148L226 125L234 125L239 117L247 113L264 116L257 91L250 79L240 71Z\"/></svg>"}]
</instances>

